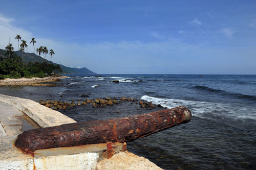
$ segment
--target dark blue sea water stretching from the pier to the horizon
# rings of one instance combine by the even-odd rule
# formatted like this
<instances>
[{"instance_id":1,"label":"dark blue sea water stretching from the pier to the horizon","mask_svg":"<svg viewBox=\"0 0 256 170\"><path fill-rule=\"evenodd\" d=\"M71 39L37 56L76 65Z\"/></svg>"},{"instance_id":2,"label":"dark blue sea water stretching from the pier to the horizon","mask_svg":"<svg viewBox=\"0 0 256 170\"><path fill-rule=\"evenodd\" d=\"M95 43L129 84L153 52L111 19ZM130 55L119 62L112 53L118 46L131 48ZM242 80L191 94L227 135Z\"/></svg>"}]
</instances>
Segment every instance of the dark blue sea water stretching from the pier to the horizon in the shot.
<instances>
[{"instance_id":1,"label":"dark blue sea water stretching from the pier to the horizon","mask_svg":"<svg viewBox=\"0 0 256 170\"><path fill-rule=\"evenodd\" d=\"M112 81L118 80L119 83ZM125 97L185 106L189 123L127 143L127 148L164 169L256 168L255 75L73 75L57 87L0 87L0 93L39 100ZM156 109L157 110L157 109ZM77 122L141 114L135 103L60 110Z\"/></svg>"}]
</instances>

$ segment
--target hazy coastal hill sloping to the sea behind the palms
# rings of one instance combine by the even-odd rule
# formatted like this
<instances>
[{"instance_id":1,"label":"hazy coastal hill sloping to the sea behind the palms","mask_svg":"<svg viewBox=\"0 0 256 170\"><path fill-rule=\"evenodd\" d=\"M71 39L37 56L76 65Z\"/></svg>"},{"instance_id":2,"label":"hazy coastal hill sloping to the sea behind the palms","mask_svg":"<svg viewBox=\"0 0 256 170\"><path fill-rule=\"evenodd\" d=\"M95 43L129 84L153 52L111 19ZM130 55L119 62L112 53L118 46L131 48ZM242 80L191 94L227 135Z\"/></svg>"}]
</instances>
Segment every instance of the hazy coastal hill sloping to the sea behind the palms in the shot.
<instances>
[{"instance_id":1,"label":"hazy coastal hill sloping to the sea behind the palms","mask_svg":"<svg viewBox=\"0 0 256 170\"><path fill-rule=\"evenodd\" d=\"M0 57L6 57L4 56L4 54L8 53L8 51L6 50L2 50L0 49ZM15 51L14 52L17 56L20 56L23 60L24 63L29 63L29 62L47 62L47 63L52 63L54 65L58 64L58 63L54 63L52 61L49 61L47 59L42 58L41 56L38 56L34 53L25 53L22 51ZM22 55L21 55L22 54ZM75 67L67 67L65 65L59 64L60 68L62 69L62 74L85 74L85 75L93 75L96 74L95 72L89 70L86 67L83 68L75 68Z\"/></svg>"}]
</instances>

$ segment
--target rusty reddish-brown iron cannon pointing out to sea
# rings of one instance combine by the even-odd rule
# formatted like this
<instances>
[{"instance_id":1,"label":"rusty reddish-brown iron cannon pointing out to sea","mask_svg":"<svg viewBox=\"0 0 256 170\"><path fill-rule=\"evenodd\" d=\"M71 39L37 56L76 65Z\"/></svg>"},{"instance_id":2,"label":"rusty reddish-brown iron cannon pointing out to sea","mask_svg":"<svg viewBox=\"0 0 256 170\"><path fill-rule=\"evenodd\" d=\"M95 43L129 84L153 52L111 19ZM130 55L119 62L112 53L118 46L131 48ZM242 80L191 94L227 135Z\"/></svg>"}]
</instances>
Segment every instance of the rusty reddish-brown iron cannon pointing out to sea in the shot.
<instances>
[{"instance_id":1,"label":"rusty reddish-brown iron cannon pointing out to sea","mask_svg":"<svg viewBox=\"0 0 256 170\"><path fill-rule=\"evenodd\" d=\"M189 122L191 112L183 107L108 120L92 120L19 134L14 142L24 152L106 142L133 141Z\"/></svg>"}]
</instances>

